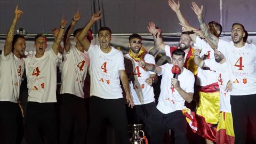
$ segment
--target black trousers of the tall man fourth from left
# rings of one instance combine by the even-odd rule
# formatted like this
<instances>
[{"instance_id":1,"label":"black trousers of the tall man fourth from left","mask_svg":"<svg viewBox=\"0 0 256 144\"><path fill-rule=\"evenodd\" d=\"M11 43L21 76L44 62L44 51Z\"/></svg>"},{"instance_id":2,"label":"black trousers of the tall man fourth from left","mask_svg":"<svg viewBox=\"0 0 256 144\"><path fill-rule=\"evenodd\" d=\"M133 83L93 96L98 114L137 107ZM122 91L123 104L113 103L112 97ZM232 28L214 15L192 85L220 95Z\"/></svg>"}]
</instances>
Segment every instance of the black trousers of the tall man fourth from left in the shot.
<instances>
[{"instance_id":1,"label":"black trousers of the tall man fourth from left","mask_svg":"<svg viewBox=\"0 0 256 144\"><path fill-rule=\"evenodd\" d=\"M90 125L87 132L87 144L98 144L100 141L99 133L102 129L102 121L109 118L117 136L116 143L127 144L128 125L125 113L124 99L102 99L92 96L90 98Z\"/></svg>"}]
</instances>

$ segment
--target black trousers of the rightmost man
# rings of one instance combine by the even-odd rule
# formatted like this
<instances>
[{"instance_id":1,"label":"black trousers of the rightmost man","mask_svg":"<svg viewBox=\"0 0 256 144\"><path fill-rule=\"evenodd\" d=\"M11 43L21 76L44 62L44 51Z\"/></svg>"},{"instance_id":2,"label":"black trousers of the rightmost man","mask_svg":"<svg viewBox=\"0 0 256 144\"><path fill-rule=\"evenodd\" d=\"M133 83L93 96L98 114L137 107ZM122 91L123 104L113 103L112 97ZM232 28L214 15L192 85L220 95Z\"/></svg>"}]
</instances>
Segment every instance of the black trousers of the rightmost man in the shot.
<instances>
[{"instance_id":1,"label":"black trousers of the rightmost man","mask_svg":"<svg viewBox=\"0 0 256 144\"><path fill-rule=\"evenodd\" d=\"M256 94L231 95L230 104L235 143L246 143L247 127L251 128L250 133L256 143Z\"/></svg>"}]
</instances>

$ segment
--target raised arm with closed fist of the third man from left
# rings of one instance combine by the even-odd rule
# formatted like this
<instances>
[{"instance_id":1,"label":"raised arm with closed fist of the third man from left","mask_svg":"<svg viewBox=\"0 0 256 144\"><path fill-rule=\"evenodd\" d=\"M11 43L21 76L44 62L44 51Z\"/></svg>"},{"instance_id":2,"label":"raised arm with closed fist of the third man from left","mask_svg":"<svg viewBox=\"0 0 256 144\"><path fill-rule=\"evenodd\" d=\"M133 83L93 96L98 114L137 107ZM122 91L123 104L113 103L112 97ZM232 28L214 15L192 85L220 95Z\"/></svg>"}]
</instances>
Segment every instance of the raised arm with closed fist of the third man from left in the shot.
<instances>
[{"instance_id":1,"label":"raised arm with closed fist of the third man from left","mask_svg":"<svg viewBox=\"0 0 256 144\"><path fill-rule=\"evenodd\" d=\"M70 49L70 45L71 45L70 35L71 35L71 33L74 29L74 26L75 26L76 22L79 21L79 19L80 19L80 14L79 14L79 10L77 10L77 12L73 16L73 19L72 19L70 25L66 29L65 35L63 37L64 49L65 49L66 52L68 52L69 49Z\"/></svg>"}]
</instances>

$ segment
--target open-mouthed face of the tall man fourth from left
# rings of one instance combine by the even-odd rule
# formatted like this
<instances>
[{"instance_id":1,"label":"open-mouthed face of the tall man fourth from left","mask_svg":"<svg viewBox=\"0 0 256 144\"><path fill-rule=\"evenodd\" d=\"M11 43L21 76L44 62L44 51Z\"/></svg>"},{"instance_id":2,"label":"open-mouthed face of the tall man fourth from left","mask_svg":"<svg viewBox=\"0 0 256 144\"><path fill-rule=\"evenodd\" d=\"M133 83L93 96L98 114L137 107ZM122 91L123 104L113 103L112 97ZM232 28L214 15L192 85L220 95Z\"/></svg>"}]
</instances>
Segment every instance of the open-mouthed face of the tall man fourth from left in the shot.
<instances>
[{"instance_id":1,"label":"open-mouthed face of the tall man fourth from left","mask_svg":"<svg viewBox=\"0 0 256 144\"><path fill-rule=\"evenodd\" d=\"M100 49L111 49L110 41L111 41L111 33L109 30L99 31Z\"/></svg>"}]
</instances>

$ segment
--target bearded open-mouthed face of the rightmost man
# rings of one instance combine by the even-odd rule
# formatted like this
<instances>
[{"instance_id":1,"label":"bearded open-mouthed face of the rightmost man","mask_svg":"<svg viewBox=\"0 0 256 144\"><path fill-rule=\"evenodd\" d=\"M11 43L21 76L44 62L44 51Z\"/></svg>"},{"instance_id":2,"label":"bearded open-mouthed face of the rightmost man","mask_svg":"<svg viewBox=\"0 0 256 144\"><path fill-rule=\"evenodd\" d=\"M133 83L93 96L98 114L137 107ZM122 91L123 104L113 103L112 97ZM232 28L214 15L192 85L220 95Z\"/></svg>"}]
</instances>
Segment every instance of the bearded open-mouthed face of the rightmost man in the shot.
<instances>
[{"instance_id":1,"label":"bearded open-mouthed face of the rightmost man","mask_svg":"<svg viewBox=\"0 0 256 144\"><path fill-rule=\"evenodd\" d=\"M243 42L245 36L244 29L241 25L234 25L231 30L231 38L235 44Z\"/></svg>"}]
</instances>

